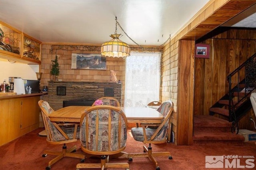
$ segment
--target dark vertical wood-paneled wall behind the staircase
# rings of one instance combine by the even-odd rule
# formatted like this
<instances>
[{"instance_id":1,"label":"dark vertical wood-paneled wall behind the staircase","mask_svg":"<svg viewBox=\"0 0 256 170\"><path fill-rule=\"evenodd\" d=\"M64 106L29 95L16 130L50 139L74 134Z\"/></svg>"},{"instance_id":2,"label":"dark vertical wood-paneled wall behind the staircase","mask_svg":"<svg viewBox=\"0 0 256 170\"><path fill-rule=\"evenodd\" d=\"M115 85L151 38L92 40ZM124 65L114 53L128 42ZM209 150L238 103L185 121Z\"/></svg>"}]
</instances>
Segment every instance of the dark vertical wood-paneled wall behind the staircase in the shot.
<instances>
[{"instance_id":1,"label":"dark vertical wood-paneled wall behind the staircase","mask_svg":"<svg viewBox=\"0 0 256 170\"><path fill-rule=\"evenodd\" d=\"M208 115L209 108L228 92L228 74L256 52L255 39L256 30L228 30L203 42L210 44L210 58L195 59L195 115ZM242 118L240 129L250 128L245 127L250 126L248 121L248 116Z\"/></svg>"}]
</instances>

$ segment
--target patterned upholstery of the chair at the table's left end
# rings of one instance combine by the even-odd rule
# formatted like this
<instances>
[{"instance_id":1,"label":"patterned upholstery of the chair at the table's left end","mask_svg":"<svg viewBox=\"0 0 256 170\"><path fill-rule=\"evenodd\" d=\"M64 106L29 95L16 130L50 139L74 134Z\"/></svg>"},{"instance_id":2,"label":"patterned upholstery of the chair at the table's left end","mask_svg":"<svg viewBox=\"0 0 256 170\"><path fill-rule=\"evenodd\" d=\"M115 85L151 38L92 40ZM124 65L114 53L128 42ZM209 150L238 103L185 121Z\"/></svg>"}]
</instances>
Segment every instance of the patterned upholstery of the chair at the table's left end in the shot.
<instances>
[{"instance_id":1,"label":"patterned upholstery of the chair at the table's left end","mask_svg":"<svg viewBox=\"0 0 256 170\"><path fill-rule=\"evenodd\" d=\"M48 102L46 102L46 101L42 102L42 107L47 112L47 113L42 112L42 116L44 116L44 120L46 120L46 122L44 122L44 126L47 127L46 124L48 124L48 127L49 127L49 129L46 130L47 139L50 140L50 141L53 141L53 142L67 140L60 133L60 131L54 126L54 124L52 124L50 118L48 117L52 112L54 112L52 110L52 108L50 107L50 105L48 104ZM64 126L64 127L61 127L61 129L68 135L68 137L70 139L73 139L74 127ZM79 130L80 130L80 128L78 128L78 130L76 132L76 138L77 139L79 138ZM50 139L50 136L52 136L52 139Z\"/></svg>"}]
</instances>

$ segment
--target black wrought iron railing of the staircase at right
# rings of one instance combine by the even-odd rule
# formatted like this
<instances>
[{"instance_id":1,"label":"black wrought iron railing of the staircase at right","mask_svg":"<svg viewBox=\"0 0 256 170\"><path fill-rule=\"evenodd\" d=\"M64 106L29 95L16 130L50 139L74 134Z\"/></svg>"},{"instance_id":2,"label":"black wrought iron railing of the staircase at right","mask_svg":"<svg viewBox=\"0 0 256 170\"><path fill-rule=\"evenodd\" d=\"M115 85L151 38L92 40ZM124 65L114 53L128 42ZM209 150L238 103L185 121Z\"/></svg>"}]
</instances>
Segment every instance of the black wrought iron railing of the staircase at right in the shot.
<instances>
[{"instance_id":1,"label":"black wrought iron railing of the staircase at right","mask_svg":"<svg viewBox=\"0 0 256 170\"><path fill-rule=\"evenodd\" d=\"M256 87L256 53L248 58L236 70L227 76L228 80L228 112L232 131L238 133L238 120L252 107L250 93Z\"/></svg>"}]
</instances>

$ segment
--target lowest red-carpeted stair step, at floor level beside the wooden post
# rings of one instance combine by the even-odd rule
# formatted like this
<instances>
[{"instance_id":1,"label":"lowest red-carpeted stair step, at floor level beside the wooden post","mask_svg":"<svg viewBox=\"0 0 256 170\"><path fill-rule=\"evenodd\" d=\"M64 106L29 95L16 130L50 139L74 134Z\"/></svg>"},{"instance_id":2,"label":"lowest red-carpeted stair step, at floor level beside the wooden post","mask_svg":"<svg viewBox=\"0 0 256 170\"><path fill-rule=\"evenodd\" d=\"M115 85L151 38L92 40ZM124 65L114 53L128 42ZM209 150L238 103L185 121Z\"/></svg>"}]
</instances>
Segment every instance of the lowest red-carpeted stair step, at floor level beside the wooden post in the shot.
<instances>
[{"instance_id":1,"label":"lowest red-carpeted stair step, at floor level beside the wooden post","mask_svg":"<svg viewBox=\"0 0 256 170\"><path fill-rule=\"evenodd\" d=\"M244 136L231 132L194 132L193 145L244 145Z\"/></svg>"}]
</instances>

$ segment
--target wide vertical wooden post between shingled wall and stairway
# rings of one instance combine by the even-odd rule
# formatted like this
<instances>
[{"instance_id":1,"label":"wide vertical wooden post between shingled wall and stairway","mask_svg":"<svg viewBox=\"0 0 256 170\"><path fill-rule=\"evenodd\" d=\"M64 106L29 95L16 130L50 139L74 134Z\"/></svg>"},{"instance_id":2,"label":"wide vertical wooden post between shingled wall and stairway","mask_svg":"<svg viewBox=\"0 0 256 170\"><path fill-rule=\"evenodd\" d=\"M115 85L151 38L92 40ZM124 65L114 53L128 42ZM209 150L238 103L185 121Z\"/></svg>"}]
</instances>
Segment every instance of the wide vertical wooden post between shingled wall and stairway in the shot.
<instances>
[{"instance_id":1,"label":"wide vertical wooden post between shingled wall and stairway","mask_svg":"<svg viewBox=\"0 0 256 170\"><path fill-rule=\"evenodd\" d=\"M194 98L194 41L179 41L178 144L192 145Z\"/></svg>"}]
</instances>

